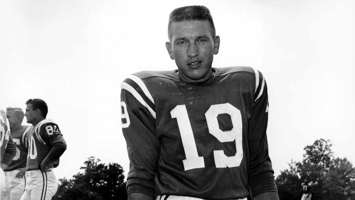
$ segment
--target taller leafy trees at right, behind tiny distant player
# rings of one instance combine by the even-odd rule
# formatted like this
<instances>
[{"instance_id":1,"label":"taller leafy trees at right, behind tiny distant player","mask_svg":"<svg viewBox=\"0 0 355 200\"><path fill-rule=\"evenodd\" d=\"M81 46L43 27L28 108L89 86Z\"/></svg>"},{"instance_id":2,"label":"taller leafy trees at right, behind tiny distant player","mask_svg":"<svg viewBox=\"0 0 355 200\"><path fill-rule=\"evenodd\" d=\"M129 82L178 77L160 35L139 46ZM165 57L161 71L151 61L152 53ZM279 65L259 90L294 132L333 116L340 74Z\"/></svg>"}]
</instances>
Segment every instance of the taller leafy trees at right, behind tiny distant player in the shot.
<instances>
[{"instance_id":1,"label":"taller leafy trees at right, behind tiny distant player","mask_svg":"<svg viewBox=\"0 0 355 200\"><path fill-rule=\"evenodd\" d=\"M355 199L355 168L346 158L334 158L330 140L307 145L302 162L291 161L276 179L279 198L300 199L301 183L312 182L312 200Z\"/></svg>"}]
</instances>

